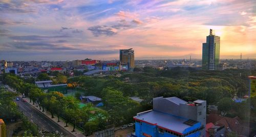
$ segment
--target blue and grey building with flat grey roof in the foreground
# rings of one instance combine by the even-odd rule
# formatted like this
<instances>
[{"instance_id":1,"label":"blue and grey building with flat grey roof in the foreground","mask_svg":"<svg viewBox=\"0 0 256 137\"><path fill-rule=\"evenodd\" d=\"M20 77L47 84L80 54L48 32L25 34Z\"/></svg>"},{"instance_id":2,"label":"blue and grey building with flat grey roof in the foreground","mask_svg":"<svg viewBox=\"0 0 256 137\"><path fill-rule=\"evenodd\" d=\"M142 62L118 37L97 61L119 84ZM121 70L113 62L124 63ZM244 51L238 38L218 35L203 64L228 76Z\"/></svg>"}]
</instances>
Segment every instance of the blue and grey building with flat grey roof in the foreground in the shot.
<instances>
[{"instance_id":1,"label":"blue and grey building with flat grey roof in the foreground","mask_svg":"<svg viewBox=\"0 0 256 137\"><path fill-rule=\"evenodd\" d=\"M137 113L134 119L132 136L205 136L206 101L158 97L153 99L153 110Z\"/></svg>"}]
</instances>

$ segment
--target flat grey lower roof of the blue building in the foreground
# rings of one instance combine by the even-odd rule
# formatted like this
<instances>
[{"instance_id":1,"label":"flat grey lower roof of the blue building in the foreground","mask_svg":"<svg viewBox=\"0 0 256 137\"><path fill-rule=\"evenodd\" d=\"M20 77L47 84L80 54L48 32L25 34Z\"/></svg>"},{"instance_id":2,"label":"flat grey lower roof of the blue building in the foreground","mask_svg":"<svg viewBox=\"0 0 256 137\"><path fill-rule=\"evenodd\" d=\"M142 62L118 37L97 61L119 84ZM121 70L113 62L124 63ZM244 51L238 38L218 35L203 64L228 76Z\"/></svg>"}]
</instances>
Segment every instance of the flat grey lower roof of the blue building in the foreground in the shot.
<instances>
[{"instance_id":1,"label":"flat grey lower roof of the blue building in the foreground","mask_svg":"<svg viewBox=\"0 0 256 137\"><path fill-rule=\"evenodd\" d=\"M142 113L138 113L134 117L135 120L143 121L148 124L157 125L172 131L183 133L183 131L191 126L185 124L188 119L169 115L167 113L151 110ZM197 121L194 124L199 123Z\"/></svg>"}]
</instances>

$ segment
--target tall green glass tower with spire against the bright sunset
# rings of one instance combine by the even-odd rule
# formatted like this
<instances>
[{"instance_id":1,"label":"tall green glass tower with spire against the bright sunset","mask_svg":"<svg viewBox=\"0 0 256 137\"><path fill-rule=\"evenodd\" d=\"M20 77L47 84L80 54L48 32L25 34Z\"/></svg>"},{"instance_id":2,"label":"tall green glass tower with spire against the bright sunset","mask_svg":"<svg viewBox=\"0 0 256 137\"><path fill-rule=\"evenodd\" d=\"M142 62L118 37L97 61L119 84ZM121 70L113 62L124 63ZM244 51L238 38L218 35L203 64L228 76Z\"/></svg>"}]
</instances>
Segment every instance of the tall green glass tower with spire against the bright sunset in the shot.
<instances>
[{"instance_id":1,"label":"tall green glass tower with spire against the bright sunset","mask_svg":"<svg viewBox=\"0 0 256 137\"><path fill-rule=\"evenodd\" d=\"M203 70L218 70L220 66L220 37L214 34L210 29L210 35L206 37L206 43L203 43Z\"/></svg>"}]
</instances>

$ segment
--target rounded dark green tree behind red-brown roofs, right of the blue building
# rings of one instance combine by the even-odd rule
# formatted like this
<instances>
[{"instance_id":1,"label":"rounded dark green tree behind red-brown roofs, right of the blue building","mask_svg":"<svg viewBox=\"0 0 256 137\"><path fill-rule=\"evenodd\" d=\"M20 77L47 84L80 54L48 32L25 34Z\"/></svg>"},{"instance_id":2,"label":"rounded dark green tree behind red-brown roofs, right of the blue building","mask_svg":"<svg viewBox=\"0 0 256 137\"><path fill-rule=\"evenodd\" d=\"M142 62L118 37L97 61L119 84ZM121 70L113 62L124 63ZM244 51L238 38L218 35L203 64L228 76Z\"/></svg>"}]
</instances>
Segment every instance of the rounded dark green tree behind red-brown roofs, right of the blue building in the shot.
<instances>
[{"instance_id":1,"label":"rounded dark green tree behind red-brown roofs, right of the blue building","mask_svg":"<svg viewBox=\"0 0 256 137\"><path fill-rule=\"evenodd\" d=\"M226 112L232 109L234 105L234 101L231 98L223 98L218 102L218 110L224 112L224 116L226 115Z\"/></svg>"}]
</instances>

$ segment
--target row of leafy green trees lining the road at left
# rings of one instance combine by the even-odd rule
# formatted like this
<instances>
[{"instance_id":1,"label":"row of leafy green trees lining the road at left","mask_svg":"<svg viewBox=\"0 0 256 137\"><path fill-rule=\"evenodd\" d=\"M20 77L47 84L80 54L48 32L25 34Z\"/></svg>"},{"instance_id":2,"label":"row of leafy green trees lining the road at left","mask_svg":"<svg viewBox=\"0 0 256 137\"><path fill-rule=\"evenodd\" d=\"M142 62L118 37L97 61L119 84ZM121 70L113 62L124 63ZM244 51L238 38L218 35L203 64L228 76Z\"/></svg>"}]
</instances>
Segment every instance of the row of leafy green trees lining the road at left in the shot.
<instances>
[{"instance_id":1,"label":"row of leafy green trees lining the road at left","mask_svg":"<svg viewBox=\"0 0 256 137\"><path fill-rule=\"evenodd\" d=\"M3 77L5 84L8 84L11 88L20 89L19 92L28 96L30 102L37 103L39 109L45 111L45 108L51 112L52 118L54 115L59 118L66 119L66 126L68 123L73 123L73 131L75 126L79 125L89 132L91 125L95 127L95 130L104 129L106 120L109 119L108 113L104 110L94 109L91 104L88 104L82 108L79 108L79 101L74 97L65 97L59 92L44 93L40 88L33 84L25 83L19 77L11 74L5 74ZM19 84L16 84L18 82ZM91 118L94 117L92 120ZM88 123L89 122L89 123ZM93 124L90 124L93 123ZM95 124L96 123L96 124ZM90 130L93 132L93 130Z\"/></svg>"}]
</instances>

